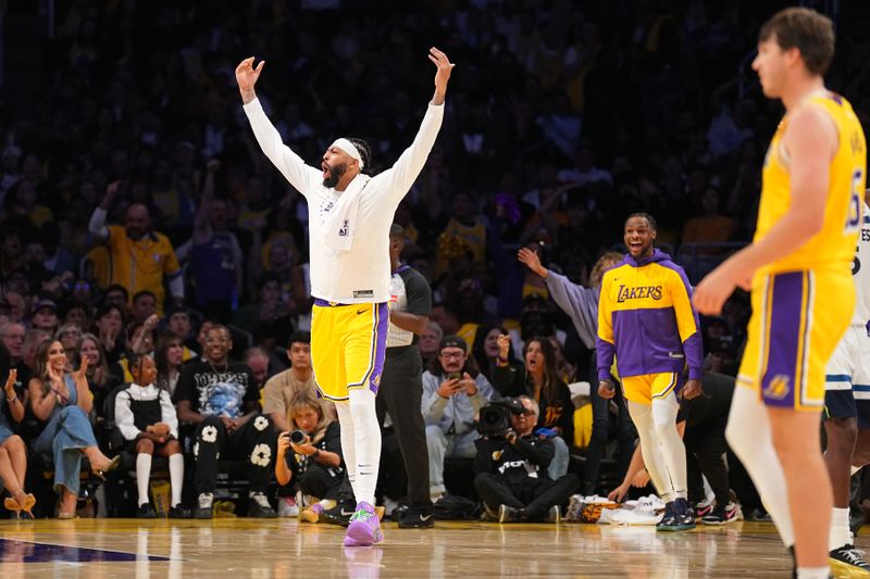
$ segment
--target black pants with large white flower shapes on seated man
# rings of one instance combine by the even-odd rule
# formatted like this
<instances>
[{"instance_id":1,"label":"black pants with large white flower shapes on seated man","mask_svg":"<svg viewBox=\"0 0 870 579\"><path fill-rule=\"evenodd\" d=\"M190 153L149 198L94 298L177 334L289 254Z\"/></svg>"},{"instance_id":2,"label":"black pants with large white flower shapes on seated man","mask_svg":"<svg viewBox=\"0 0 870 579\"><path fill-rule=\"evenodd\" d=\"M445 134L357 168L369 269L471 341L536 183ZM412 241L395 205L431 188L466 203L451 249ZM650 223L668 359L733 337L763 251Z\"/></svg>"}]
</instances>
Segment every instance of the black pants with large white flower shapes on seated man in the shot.
<instances>
[{"instance_id":1,"label":"black pants with large white flower shapes on seated man","mask_svg":"<svg viewBox=\"0 0 870 579\"><path fill-rule=\"evenodd\" d=\"M241 428L232 432L226 431L219 416L206 417L196 433L197 493L214 492L219 454L224 460L245 461L250 490L264 492L274 465L274 442L275 429L265 415L251 416Z\"/></svg>"}]
</instances>

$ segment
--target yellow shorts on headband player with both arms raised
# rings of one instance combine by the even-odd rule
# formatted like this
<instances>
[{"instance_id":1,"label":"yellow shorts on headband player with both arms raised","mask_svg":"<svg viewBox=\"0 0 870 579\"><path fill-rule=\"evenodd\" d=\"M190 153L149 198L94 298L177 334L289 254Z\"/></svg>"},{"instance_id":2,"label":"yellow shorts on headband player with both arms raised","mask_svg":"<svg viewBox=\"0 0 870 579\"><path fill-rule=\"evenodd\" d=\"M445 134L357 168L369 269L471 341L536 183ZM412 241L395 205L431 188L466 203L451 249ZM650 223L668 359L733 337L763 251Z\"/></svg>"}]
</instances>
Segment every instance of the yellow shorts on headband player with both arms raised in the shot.
<instances>
[{"instance_id":1,"label":"yellow shorts on headband player with both arms raised","mask_svg":"<svg viewBox=\"0 0 870 579\"><path fill-rule=\"evenodd\" d=\"M353 389L377 393L384 370L389 310L386 303L311 307L311 365L314 386L327 400L347 400Z\"/></svg>"}]
</instances>

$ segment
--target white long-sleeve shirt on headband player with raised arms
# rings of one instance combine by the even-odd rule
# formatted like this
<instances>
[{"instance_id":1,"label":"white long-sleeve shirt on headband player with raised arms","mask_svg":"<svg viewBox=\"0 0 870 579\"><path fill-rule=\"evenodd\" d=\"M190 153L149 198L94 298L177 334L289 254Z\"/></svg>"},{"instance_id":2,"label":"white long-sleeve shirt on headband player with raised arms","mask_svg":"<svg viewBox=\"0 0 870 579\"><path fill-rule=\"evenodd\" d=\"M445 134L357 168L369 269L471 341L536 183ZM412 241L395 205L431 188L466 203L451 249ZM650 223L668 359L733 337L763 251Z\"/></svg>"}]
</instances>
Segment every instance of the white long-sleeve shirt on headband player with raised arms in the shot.
<instances>
[{"instance_id":1,"label":"white long-sleeve shirt on headband player with raised arms","mask_svg":"<svg viewBox=\"0 0 870 579\"><path fill-rule=\"evenodd\" d=\"M324 221L341 191L323 186L321 169L304 162L281 139L259 99L245 105L260 148L309 206L311 295L336 303L381 303L389 300L389 227L438 136L444 105L430 104L411 146L389 169L374 176L362 191L352 247L334 252L324 239ZM357 177L359 178L359 177Z\"/></svg>"}]
</instances>

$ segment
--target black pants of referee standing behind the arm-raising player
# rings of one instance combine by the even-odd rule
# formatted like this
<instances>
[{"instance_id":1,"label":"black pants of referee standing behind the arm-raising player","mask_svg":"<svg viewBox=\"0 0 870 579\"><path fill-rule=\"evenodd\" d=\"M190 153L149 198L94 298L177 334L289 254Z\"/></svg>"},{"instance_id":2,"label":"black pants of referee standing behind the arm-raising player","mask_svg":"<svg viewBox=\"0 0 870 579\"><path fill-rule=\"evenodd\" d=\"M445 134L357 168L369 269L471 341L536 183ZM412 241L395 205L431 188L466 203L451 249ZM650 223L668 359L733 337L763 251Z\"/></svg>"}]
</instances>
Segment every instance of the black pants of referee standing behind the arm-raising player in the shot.
<instances>
[{"instance_id":1,"label":"black pants of referee standing behind the arm-raising player","mask_svg":"<svg viewBox=\"0 0 870 579\"><path fill-rule=\"evenodd\" d=\"M388 348L377 391L377 419L389 414L408 475L408 498L413 509L432 512L428 496L428 450L423 421L423 362L415 345Z\"/></svg>"}]
</instances>

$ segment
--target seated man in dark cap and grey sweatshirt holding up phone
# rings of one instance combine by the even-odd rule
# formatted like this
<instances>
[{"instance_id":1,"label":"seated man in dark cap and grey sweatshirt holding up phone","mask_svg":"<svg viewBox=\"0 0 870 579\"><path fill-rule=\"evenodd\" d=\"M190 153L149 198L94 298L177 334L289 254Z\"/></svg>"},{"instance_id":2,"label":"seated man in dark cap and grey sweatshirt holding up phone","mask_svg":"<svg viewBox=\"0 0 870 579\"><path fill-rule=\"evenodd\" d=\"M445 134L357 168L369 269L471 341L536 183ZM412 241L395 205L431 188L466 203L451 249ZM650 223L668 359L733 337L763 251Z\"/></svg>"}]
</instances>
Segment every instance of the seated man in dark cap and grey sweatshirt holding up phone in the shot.
<instances>
[{"instance_id":1,"label":"seated man in dark cap and grey sweatshirt holding up phone","mask_svg":"<svg viewBox=\"0 0 870 579\"><path fill-rule=\"evenodd\" d=\"M477 370L465 340L445 336L423 373L423 419L426 421L430 495L444 495L445 457L474 457L474 419L493 398L489 380Z\"/></svg>"}]
</instances>

